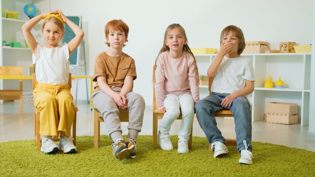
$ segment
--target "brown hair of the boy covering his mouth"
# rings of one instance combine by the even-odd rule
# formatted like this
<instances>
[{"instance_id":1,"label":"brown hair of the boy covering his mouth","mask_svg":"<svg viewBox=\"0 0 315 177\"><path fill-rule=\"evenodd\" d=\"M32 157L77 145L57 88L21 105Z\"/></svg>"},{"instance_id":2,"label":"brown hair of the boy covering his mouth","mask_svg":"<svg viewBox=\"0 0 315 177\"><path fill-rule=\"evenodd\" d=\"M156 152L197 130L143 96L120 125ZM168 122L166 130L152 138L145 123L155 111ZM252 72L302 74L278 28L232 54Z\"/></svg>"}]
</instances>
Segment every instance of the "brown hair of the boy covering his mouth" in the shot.
<instances>
[{"instance_id":1,"label":"brown hair of the boy covering his mouth","mask_svg":"<svg viewBox=\"0 0 315 177\"><path fill-rule=\"evenodd\" d=\"M232 31L235 35L235 37L238 38L238 49L237 49L237 53L240 55L242 54L243 50L245 49L245 38L244 38L244 34L243 31L241 30L241 28L234 26L234 25L230 25L230 26L226 26L222 31L221 31L221 36L220 36L220 46L222 44L222 39L223 37L229 32Z\"/></svg>"}]
</instances>

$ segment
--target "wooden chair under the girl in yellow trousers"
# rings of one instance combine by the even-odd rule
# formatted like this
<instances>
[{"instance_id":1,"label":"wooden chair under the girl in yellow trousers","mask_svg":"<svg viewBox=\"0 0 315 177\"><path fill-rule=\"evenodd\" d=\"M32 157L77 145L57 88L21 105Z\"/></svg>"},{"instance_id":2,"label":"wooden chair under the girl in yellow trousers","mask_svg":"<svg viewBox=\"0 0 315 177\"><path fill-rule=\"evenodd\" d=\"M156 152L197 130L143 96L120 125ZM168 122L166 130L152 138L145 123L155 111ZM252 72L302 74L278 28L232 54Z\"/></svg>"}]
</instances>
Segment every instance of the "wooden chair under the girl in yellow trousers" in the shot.
<instances>
[{"instance_id":1,"label":"wooden chair under the girl in yellow trousers","mask_svg":"<svg viewBox=\"0 0 315 177\"><path fill-rule=\"evenodd\" d=\"M36 74L33 73L33 89L35 89L35 85L37 83L36 80ZM69 82L68 82L69 88L71 89L71 73L69 73ZM73 145L76 146L76 124L77 124L77 111L78 108L74 108L74 118L73 118L73 123L72 123L72 138L73 138ZM35 107L34 106L34 132L35 132L35 144L37 146L37 151L40 150L40 142L41 142L41 137L39 134L39 129L40 129L40 119L39 119L39 113L40 113L40 107ZM58 139L54 139L54 141L59 141Z\"/></svg>"}]
</instances>

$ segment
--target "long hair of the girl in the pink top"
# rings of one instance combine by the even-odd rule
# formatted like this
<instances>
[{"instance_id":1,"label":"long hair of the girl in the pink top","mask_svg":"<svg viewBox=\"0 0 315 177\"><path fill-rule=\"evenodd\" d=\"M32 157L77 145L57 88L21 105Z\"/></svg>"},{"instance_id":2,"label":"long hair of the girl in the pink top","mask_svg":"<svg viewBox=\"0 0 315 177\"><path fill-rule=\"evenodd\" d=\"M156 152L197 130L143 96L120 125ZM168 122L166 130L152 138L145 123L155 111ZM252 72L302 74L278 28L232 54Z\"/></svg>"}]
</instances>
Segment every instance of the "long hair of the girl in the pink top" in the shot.
<instances>
[{"instance_id":1,"label":"long hair of the girl in the pink top","mask_svg":"<svg viewBox=\"0 0 315 177\"><path fill-rule=\"evenodd\" d=\"M166 40L166 37L167 37L167 34L169 32L169 30L171 29L174 29L174 28L179 28L181 30L181 32L183 33L183 36L185 37L185 40L186 40L186 44L184 44L183 46L183 51L186 51L190 54L192 54L192 51L190 50L189 46L188 46L188 39L187 39L187 36L186 36L186 32L185 32L185 29L178 23L173 23L171 25L169 25L166 30L165 30L165 33L164 33L164 40L163 40L163 47L161 48L159 54L157 55L157 58L160 54L162 54L163 52L165 51L169 51L169 46L167 46L165 44L165 40ZM193 65L195 65L196 67L196 85L199 85L199 73L198 73L198 68L197 68L197 62L196 62L196 58L194 56L194 54L192 54L192 57L194 58L194 62L193 62ZM157 67L157 58L155 59L155 68ZM154 75L153 75L154 76Z\"/></svg>"}]
</instances>

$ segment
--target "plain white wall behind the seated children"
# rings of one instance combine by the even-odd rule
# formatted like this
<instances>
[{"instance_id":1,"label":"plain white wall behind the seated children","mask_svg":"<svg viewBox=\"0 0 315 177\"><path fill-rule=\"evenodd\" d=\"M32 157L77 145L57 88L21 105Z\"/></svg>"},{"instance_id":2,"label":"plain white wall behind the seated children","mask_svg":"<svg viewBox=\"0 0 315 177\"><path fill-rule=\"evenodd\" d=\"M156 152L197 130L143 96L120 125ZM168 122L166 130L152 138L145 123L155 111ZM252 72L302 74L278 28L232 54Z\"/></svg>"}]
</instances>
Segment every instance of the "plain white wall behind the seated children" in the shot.
<instances>
[{"instance_id":1,"label":"plain white wall behind the seated children","mask_svg":"<svg viewBox=\"0 0 315 177\"><path fill-rule=\"evenodd\" d=\"M51 10L82 15L89 75L93 75L95 56L107 49L106 23L113 19L127 23L129 42L123 51L135 59L138 78L134 92L140 93L147 105L152 105L152 66L168 25L180 23L191 48L218 48L221 30L236 25L246 41L268 41L271 49L278 49L280 42L311 43L312 7L312 0L51 1ZM79 93L78 99L86 99L85 86Z\"/></svg>"}]
</instances>

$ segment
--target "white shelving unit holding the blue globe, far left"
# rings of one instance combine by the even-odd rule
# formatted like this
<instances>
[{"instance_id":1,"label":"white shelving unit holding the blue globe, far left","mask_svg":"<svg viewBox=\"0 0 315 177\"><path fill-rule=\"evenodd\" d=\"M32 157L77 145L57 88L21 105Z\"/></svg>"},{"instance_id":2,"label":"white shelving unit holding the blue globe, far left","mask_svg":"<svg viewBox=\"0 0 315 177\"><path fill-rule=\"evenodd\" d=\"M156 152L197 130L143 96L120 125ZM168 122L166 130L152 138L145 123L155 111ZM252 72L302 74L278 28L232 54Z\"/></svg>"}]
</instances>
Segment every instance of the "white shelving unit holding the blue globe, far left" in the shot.
<instances>
[{"instance_id":1,"label":"white shelving unit holding the blue globe, far left","mask_svg":"<svg viewBox=\"0 0 315 177\"><path fill-rule=\"evenodd\" d=\"M0 47L0 66L22 66L23 75L30 75L29 66L32 66L32 52L29 48L25 48L25 40L22 33L23 24L29 20L29 17L24 13L24 6L33 3L37 8L37 14L50 11L49 0L2 0L1 8L8 11L19 12L19 19L0 18L1 36L0 41L7 43L20 42L20 48ZM34 30L37 31L36 40L43 43L41 37L41 22L39 22ZM15 89L19 87L19 83L13 80L1 81L1 89ZM31 81L23 81L23 89L31 89Z\"/></svg>"}]
</instances>

